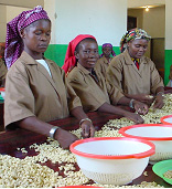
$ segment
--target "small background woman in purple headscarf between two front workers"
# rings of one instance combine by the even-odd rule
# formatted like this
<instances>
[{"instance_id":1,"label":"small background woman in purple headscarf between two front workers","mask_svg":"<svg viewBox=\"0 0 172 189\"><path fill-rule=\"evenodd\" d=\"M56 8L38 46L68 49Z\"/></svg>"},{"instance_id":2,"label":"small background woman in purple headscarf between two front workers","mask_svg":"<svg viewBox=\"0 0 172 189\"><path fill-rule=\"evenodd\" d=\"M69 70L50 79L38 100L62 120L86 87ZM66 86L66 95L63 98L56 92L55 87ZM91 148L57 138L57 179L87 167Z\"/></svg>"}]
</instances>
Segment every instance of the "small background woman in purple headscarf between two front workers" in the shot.
<instances>
[{"instance_id":1,"label":"small background woman in purple headscarf between two front workers","mask_svg":"<svg viewBox=\"0 0 172 189\"><path fill-rule=\"evenodd\" d=\"M106 77L106 70L109 66L109 63L111 61L111 56L116 56L115 51L112 50L112 45L110 43L103 44L103 54L100 54L100 59L98 59L96 63L96 70L101 72L101 74Z\"/></svg>"}]
</instances>

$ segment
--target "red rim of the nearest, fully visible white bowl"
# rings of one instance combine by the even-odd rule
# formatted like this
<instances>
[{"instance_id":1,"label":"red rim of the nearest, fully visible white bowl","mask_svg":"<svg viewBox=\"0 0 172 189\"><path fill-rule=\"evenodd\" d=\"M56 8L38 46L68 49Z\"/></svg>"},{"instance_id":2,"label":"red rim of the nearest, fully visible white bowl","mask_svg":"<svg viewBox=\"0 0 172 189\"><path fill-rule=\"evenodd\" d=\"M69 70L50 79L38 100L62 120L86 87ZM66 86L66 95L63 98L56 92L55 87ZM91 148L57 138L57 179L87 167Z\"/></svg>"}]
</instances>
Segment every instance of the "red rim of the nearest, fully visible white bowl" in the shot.
<instances>
[{"instance_id":1,"label":"red rim of the nearest, fully visible white bowl","mask_svg":"<svg viewBox=\"0 0 172 189\"><path fill-rule=\"evenodd\" d=\"M132 155L121 155L121 156L119 156L119 155L118 156L94 155L94 154L88 154L88 153L82 153L82 151L75 149L75 147L77 145L80 145L84 143L96 141L96 140L111 140L111 139L112 140L139 141L139 143L143 143L143 144L150 146L151 148L144 153L132 154ZM153 143L143 140L143 139L136 139L136 138L128 138L128 137L95 137L95 138L86 138L86 139L79 139L79 140L74 141L69 146L69 150L75 155L87 157L87 158L94 158L94 159L131 159L131 158L141 159L141 158L146 158L151 155L154 155L155 146Z\"/></svg>"}]
</instances>

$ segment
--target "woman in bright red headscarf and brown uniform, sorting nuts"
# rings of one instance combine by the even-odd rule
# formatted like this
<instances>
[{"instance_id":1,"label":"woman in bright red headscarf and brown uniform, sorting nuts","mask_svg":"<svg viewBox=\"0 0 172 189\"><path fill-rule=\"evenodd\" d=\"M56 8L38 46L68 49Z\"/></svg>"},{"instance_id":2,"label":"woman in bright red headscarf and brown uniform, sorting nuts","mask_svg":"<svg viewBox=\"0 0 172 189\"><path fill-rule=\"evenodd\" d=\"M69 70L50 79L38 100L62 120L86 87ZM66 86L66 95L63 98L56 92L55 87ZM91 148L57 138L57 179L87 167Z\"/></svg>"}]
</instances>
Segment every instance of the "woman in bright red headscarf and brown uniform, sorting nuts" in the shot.
<instances>
[{"instance_id":1,"label":"woman in bright red headscarf and brown uniform, sorting nuts","mask_svg":"<svg viewBox=\"0 0 172 189\"><path fill-rule=\"evenodd\" d=\"M73 55L68 56L68 52ZM98 45L94 36L78 35L69 42L66 53L69 62L66 59L64 67L67 72L72 60L74 61L72 66L76 66L67 74L67 80L79 96L84 109L117 114L135 123L143 123L140 115L115 106L116 104L130 104L141 114L148 112L147 105L125 97L118 90L106 84L103 74L94 69L98 56Z\"/></svg>"}]
</instances>

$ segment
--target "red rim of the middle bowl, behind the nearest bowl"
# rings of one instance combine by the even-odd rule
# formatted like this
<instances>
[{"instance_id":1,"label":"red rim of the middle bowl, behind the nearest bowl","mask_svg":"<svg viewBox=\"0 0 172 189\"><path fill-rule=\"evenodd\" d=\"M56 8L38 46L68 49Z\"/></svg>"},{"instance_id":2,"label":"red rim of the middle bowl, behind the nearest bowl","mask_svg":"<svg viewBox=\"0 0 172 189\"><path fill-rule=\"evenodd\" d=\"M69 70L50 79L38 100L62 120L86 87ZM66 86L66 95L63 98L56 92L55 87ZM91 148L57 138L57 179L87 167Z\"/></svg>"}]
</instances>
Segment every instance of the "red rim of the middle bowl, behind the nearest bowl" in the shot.
<instances>
[{"instance_id":1,"label":"red rim of the middle bowl, behind the nearest bowl","mask_svg":"<svg viewBox=\"0 0 172 189\"><path fill-rule=\"evenodd\" d=\"M172 128L172 125L165 125L165 124L140 124L140 125L130 125L126 126L119 129L119 134L123 135L125 137L129 138L138 138L138 139L144 139L144 140L172 140L172 137L143 137L143 136L135 136L130 134L126 134L126 130L129 130L130 128L137 128L137 127L157 127L157 126L163 126L163 127L170 127Z\"/></svg>"}]
</instances>

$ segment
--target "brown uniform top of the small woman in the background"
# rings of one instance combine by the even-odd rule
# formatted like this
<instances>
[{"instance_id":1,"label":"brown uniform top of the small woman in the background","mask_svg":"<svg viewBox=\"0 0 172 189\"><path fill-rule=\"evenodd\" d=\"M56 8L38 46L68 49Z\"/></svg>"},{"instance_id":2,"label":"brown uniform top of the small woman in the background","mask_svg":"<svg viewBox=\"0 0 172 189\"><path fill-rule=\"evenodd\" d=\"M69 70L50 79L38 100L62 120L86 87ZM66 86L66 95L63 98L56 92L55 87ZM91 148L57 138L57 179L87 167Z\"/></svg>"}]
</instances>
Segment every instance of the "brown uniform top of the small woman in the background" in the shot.
<instances>
[{"instance_id":1,"label":"brown uniform top of the small woman in the background","mask_svg":"<svg viewBox=\"0 0 172 189\"><path fill-rule=\"evenodd\" d=\"M111 59L112 57L110 57L109 61L111 61ZM95 69L98 70L99 72L101 72L104 77L106 77L106 71L107 71L108 66L109 66L108 60L105 56L103 56L97 61Z\"/></svg>"}]
</instances>

